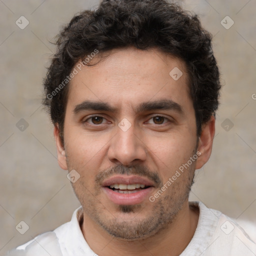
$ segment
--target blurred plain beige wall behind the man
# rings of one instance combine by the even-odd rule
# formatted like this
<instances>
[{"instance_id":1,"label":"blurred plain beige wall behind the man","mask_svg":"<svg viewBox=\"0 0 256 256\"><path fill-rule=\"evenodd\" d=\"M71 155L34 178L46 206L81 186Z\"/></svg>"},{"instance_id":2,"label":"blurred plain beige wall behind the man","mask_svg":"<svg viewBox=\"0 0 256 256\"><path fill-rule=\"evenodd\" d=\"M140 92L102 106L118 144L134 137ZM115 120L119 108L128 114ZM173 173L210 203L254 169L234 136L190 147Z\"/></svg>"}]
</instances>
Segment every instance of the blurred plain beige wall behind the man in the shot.
<instances>
[{"instance_id":1,"label":"blurred plain beige wall behind the man","mask_svg":"<svg viewBox=\"0 0 256 256\"><path fill-rule=\"evenodd\" d=\"M97 2L0 0L0 254L68 221L79 205L56 161L52 125L40 104L41 83L54 51L48 41L74 13ZM256 1L182 2L214 35L225 84L212 155L196 172L190 199L255 221ZM21 15L29 21L24 29L15 24ZM226 15L234 21L229 29L220 23ZM223 22L231 24L228 18ZM24 24L23 19L19 25ZM21 118L25 122L17 126L24 125L23 131L16 126ZM29 226L23 235L15 229L21 220Z\"/></svg>"}]
</instances>

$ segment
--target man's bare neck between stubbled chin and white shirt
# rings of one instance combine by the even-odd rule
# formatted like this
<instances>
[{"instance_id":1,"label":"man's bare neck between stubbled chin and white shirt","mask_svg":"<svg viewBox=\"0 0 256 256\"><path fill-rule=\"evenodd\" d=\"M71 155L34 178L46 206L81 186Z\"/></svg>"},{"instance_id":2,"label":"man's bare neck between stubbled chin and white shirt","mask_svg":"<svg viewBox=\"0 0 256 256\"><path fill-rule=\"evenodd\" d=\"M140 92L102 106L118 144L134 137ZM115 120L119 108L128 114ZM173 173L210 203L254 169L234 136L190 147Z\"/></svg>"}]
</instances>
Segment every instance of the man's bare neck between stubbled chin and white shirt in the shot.
<instances>
[{"instance_id":1,"label":"man's bare neck between stubbled chin and white shirt","mask_svg":"<svg viewBox=\"0 0 256 256\"><path fill-rule=\"evenodd\" d=\"M175 219L163 230L146 239L124 241L109 235L83 211L81 230L90 248L100 256L179 255L193 237L199 209L185 201Z\"/></svg>"}]
</instances>

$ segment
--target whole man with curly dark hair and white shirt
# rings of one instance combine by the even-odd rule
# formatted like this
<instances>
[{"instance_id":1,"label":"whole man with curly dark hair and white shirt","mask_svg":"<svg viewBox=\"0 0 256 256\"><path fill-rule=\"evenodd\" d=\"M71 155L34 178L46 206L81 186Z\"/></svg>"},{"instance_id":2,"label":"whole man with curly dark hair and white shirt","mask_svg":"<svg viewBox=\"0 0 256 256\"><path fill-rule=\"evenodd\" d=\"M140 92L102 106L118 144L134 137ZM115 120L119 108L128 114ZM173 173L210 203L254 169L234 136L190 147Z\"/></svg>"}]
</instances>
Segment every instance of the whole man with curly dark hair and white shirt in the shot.
<instances>
[{"instance_id":1,"label":"whole man with curly dark hair and white shirt","mask_svg":"<svg viewBox=\"0 0 256 256\"><path fill-rule=\"evenodd\" d=\"M232 219L188 201L220 89L198 18L165 0L103 0L57 46L44 104L81 207L9 255L256 255Z\"/></svg>"}]
</instances>

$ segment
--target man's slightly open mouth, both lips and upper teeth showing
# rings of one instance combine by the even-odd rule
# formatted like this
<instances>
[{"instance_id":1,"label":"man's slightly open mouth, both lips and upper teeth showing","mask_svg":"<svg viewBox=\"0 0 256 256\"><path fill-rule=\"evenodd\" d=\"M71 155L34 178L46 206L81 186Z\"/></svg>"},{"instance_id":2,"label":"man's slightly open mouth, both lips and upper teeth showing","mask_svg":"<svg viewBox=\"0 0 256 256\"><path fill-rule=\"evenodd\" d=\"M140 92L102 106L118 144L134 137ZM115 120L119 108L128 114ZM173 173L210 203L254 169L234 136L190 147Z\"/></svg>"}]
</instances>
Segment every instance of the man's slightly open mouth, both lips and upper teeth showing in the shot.
<instances>
[{"instance_id":1,"label":"man's slightly open mouth, both lips and upper teeth showing","mask_svg":"<svg viewBox=\"0 0 256 256\"><path fill-rule=\"evenodd\" d=\"M132 205L145 201L154 185L145 177L119 175L105 180L102 187L114 204Z\"/></svg>"}]
</instances>

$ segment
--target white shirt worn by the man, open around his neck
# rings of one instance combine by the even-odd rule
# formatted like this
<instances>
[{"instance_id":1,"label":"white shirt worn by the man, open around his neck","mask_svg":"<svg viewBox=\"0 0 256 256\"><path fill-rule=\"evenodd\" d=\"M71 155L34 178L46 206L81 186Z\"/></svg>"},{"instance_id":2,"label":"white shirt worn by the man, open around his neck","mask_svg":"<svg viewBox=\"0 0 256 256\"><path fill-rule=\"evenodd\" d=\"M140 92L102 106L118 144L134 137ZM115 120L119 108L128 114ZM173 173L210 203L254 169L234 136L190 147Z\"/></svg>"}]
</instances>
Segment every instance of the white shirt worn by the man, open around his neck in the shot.
<instances>
[{"instance_id":1,"label":"white shirt worn by the man, open around his neck","mask_svg":"<svg viewBox=\"0 0 256 256\"><path fill-rule=\"evenodd\" d=\"M180 256L255 256L256 241L232 219L202 202L189 202L199 207L199 219L194 235ZM8 256L96 256L80 229L82 207L77 208L69 222L53 231L36 236L18 246ZM256 226L249 225L253 237Z\"/></svg>"}]
</instances>

